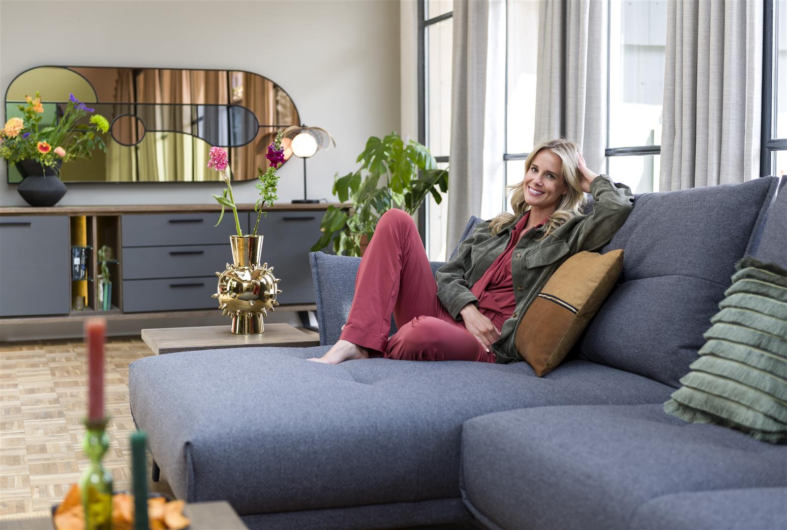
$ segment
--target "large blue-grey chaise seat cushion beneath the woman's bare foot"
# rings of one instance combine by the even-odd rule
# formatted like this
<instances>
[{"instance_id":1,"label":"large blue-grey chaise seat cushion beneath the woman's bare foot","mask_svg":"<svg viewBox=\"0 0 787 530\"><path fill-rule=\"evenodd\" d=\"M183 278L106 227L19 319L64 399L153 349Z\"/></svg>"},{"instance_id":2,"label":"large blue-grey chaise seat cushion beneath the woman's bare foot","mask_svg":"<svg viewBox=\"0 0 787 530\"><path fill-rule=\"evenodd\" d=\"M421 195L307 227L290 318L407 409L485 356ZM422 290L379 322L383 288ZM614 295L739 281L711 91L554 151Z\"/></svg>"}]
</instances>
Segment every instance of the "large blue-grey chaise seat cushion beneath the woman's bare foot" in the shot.
<instances>
[{"instance_id":1,"label":"large blue-grey chaise seat cushion beneath the woman's bare foot","mask_svg":"<svg viewBox=\"0 0 787 530\"><path fill-rule=\"evenodd\" d=\"M242 515L458 498L468 418L548 404L663 403L671 392L579 360L543 378L527 363L303 360L327 348L131 363L131 411L172 491L189 502L227 499Z\"/></svg>"}]
</instances>

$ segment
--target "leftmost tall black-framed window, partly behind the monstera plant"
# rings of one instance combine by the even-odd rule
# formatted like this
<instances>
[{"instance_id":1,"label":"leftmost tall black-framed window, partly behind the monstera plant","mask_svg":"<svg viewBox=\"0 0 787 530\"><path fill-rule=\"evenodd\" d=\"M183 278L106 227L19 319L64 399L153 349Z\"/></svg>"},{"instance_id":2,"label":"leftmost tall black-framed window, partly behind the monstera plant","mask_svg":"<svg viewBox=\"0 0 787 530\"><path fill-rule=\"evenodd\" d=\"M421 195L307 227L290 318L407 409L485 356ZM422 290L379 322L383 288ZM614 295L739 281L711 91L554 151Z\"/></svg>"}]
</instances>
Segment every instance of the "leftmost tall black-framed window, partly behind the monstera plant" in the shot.
<instances>
[{"instance_id":1,"label":"leftmost tall black-framed window, partly behind the monstera plant","mask_svg":"<svg viewBox=\"0 0 787 530\"><path fill-rule=\"evenodd\" d=\"M420 0L419 9L419 138L438 160L448 166L451 149L451 70L453 57L453 0ZM450 178L449 191L451 192ZM437 204L428 197L419 220L427 256L446 256L445 228L448 221L448 193ZM449 249L451 252L453 249Z\"/></svg>"}]
</instances>

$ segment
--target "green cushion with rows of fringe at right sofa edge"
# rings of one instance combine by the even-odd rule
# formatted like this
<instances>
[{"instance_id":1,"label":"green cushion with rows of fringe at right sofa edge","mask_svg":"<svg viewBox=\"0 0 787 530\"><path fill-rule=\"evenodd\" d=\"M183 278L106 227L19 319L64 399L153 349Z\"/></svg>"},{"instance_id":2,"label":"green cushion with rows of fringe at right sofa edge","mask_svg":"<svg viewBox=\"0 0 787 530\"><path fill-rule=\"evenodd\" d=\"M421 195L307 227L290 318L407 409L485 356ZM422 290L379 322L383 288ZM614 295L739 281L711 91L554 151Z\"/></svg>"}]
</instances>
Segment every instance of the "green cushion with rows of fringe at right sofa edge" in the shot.
<instances>
[{"instance_id":1,"label":"green cushion with rows of fringe at right sofa edge","mask_svg":"<svg viewBox=\"0 0 787 530\"><path fill-rule=\"evenodd\" d=\"M744 258L692 371L664 403L685 421L787 443L787 271Z\"/></svg>"}]
</instances>

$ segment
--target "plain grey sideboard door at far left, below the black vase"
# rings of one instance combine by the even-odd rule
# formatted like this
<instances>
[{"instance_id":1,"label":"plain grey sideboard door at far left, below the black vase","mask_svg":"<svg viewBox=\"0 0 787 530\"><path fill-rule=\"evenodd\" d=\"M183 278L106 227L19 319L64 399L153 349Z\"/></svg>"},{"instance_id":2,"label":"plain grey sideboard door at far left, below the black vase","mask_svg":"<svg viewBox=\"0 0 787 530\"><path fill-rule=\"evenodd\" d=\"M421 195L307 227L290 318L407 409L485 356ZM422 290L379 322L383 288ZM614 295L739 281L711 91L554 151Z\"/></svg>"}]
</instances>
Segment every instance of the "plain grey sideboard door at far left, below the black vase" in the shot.
<instances>
[{"instance_id":1,"label":"plain grey sideboard door at far left, below the black vase","mask_svg":"<svg viewBox=\"0 0 787 530\"><path fill-rule=\"evenodd\" d=\"M66 215L0 217L0 316L71 311Z\"/></svg>"}]
</instances>

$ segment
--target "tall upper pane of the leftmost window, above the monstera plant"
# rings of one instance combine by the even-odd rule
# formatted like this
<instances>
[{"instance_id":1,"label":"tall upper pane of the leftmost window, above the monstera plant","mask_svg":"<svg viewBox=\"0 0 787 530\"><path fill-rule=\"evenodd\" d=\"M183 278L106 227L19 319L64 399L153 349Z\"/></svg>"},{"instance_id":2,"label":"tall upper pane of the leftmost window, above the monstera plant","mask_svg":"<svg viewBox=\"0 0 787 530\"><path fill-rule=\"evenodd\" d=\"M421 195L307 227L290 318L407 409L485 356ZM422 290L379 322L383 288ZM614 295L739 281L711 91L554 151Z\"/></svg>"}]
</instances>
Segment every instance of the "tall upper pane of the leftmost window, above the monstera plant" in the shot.
<instances>
[{"instance_id":1,"label":"tall upper pane of the leftmost window, above the monstera plant","mask_svg":"<svg viewBox=\"0 0 787 530\"><path fill-rule=\"evenodd\" d=\"M427 147L433 156L451 150L453 19L427 26Z\"/></svg>"}]
</instances>

